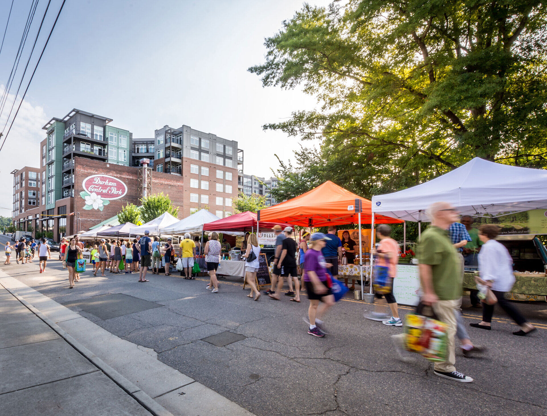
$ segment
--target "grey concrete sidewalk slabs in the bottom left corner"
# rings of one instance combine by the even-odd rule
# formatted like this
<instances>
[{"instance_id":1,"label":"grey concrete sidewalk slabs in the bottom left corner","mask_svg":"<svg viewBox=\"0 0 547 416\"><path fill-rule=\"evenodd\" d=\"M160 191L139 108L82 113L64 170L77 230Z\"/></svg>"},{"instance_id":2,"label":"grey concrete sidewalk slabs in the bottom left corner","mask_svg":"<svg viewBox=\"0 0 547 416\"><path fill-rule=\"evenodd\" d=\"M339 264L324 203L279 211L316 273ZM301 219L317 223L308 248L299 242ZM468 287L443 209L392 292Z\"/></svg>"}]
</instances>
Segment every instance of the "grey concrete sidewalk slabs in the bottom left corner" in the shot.
<instances>
[{"instance_id":1,"label":"grey concrete sidewalk slabs in the bottom left corner","mask_svg":"<svg viewBox=\"0 0 547 416\"><path fill-rule=\"evenodd\" d=\"M150 415L135 398L0 287L3 415Z\"/></svg>"}]
</instances>

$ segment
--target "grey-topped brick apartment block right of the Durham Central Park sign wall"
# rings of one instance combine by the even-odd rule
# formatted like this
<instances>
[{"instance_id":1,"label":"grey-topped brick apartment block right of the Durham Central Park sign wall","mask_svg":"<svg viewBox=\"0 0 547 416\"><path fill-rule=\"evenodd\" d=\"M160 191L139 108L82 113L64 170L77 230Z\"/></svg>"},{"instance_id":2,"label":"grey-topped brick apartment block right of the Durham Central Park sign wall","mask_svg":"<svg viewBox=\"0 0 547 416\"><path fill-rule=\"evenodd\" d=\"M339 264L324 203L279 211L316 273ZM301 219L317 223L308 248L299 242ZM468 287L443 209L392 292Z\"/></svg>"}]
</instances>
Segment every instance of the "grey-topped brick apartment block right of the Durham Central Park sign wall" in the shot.
<instances>
[{"instance_id":1,"label":"grey-topped brick apartment block right of the Durham Central Park sign wall","mask_svg":"<svg viewBox=\"0 0 547 416\"><path fill-rule=\"evenodd\" d=\"M189 202L183 207L185 216L202 208L220 218L231 215L238 172L243 172L243 151L237 142L185 125L164 126L154 137L154 171L184 179L183 198Z\"/></svg>"}]
</instances>

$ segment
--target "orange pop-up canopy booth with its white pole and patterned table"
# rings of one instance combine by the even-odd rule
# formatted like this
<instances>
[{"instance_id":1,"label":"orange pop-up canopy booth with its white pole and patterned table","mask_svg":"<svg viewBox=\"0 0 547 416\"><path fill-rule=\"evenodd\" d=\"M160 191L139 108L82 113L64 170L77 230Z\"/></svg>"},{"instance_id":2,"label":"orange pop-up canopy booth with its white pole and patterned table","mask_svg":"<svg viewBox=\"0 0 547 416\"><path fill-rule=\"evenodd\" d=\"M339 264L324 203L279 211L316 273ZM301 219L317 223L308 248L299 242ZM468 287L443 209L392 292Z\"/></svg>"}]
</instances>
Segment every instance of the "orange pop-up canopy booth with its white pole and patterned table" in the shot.
<instances>
[{"instance_id":1,"label":"orange pop-up canopy booth with its white pole and patterned table","mask_svg":"<svg viewBox=\"0 0 547 416\"><path fill-rule=\"evenodd\" d=\"M290 224L302 227L358 224L358 265L342 265L342 267L339 267L339 276L359 277L362 294L363 272L368 272L370 267L363 265L362 236L360 230L361 224L369 224L371 219L372 209L369 200L353 194L330 180L292 200L261 209L258 212L260 227L265 227L263 221L290 222ZM379 215L377 216L377 222L394 224L403 221Z\"/></svg>"}]
</instances>

